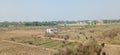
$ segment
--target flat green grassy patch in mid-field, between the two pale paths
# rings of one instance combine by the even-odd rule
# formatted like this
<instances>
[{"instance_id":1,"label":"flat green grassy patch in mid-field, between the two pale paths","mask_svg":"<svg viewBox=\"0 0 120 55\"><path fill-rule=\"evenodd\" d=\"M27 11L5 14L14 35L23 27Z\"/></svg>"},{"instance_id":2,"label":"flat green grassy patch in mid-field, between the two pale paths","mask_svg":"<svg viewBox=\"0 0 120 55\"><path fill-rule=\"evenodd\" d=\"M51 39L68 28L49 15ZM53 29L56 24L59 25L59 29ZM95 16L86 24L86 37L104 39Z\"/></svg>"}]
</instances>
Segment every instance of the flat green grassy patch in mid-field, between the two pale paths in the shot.
<instances>
[{"instance_id":1,"label":"flat green grassy patch in mid-field, between the two pale paths","mask_svg":"<svg viewBox=\"0 0 120 55\"><path fill-rule=\"evenodd\" d=\"M11 41L13 41L13 39L14 39L15 42L41 46L41 47L44 47L44 48L53 48L53 49L59 49L59 48L65 47L65 46L73 47L77 44L77 43L74 43L74 42L59 41L59 40L52 40L52 39L49 39L49 38L38 38L38 37L10 38Z\"/></svg>"}]
</instances>

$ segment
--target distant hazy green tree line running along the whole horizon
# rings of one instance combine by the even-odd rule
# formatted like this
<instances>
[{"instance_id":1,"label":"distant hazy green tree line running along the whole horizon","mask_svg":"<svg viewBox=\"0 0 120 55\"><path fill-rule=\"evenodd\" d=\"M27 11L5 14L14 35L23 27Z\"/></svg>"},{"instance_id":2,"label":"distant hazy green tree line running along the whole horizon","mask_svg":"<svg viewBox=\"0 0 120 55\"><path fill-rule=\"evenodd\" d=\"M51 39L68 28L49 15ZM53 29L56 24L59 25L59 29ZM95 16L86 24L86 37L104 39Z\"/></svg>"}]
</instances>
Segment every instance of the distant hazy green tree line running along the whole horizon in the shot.
<instances>
[{"instance_id":1,"label":"distant hazy green tree line running along the whole horizon","mask_svg":"<svg viewBox=\"0 0 120 55\"><path fill-rule=\"evenodd\" d=\"M0 27L9 27L9 26L54 26L58 24L75 24L79 22L85 22L89 23L89 20L83 20L83 21L44 21L44 22L39 22L39 21L33 21L33 22L0 22ZM97 20L94 20L93 22L95 23ZM107 23L120 23L120 19L118 20L103 20L105 24Z\"/></svg>"}]
</instances>

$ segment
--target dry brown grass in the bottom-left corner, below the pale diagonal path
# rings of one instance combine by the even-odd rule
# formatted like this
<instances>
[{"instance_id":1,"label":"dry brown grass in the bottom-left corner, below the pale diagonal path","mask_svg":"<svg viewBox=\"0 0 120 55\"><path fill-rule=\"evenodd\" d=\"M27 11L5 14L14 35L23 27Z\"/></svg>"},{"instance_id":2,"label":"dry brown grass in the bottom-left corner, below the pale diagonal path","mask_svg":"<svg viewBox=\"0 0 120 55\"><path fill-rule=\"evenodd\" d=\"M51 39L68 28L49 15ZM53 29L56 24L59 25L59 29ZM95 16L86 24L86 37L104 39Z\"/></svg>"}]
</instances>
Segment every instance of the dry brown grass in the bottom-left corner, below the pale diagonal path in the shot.
<instances>
[{"instance_id":1,"label":"dry brown grass in the bottom-left corner, below the pale diagonal path","mask_svg":"<svg viewBox=\"0 0 120 55\"><path fill-rule=\"evenodd\" d=\"M50 55L50 50L41 47L0 41L0 55Z\"/></svg>"}]
</instances>

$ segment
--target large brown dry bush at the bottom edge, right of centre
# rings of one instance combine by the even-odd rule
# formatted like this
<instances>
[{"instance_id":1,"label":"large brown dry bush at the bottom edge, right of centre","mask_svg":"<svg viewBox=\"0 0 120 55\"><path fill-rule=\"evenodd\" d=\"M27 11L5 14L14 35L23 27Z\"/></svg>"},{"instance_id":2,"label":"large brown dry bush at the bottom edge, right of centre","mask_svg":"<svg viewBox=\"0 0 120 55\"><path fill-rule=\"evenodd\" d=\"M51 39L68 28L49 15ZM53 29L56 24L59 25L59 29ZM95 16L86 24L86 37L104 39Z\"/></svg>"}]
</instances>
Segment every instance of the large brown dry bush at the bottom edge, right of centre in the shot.
<instances>
[{"instance_id":1,"label":"large brown dry bush at the bottom edge, right of centre","mask_svg":"<svg viewBox=\"0 0 120 55\"><path fill-rule=\"evenodd\" d=\"M92 40L92 39L90 39ZM89 39L86 42L90 41ZM93 43L93 44L91 44ZM80 43L74 48L65 48L65 50L60 50L56 55L99 55L101 53L101 48L98 46L95 40L87 43Z\"/></svg>"}]
</instances>

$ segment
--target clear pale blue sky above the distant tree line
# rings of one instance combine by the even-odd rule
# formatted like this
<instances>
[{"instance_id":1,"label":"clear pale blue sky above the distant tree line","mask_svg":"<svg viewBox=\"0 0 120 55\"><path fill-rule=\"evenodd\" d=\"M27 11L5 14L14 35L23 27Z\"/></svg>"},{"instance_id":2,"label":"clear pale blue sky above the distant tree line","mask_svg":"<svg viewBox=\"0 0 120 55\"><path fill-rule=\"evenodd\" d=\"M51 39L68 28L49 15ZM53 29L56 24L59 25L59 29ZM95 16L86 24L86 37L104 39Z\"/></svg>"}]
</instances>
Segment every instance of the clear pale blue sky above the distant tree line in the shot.
<instances>
[{"instance_id":1,"label":"clear pale blue sky above the distant tree line","mask_svg":"<svg viewBox=\"0 0 120 55\"><path fill-rule=\"evenodd\" d=\"M120 19L120 0L0 0L0 21Z\"/></svg>"}]
</instances>

